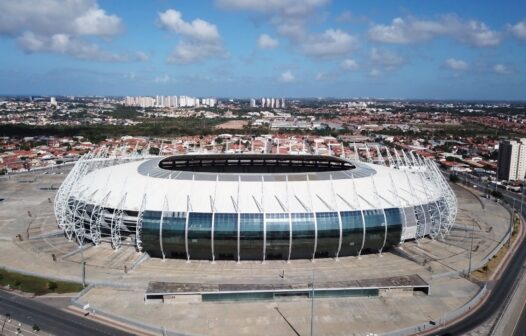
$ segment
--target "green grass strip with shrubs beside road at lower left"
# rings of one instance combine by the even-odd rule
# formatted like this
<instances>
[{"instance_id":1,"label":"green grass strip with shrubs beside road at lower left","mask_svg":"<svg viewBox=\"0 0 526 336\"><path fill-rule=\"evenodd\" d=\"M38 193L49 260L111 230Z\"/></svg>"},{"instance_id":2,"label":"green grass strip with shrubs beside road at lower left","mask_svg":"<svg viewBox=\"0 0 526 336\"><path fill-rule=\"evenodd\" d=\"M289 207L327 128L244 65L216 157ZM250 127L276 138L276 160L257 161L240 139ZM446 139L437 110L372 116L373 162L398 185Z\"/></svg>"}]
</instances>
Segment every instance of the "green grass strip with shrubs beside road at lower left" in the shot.
<instances>
[{"instance_id":1,"label":"green grass strip with shrubs beside road at lower left","mask_svg":"<svg viewBox=\"0 0 526 336\"><path fill-rule=\"evenodd\" d=\"M54 281L32 275L9 272L2 268L0 268L0 285L9 285L13 289L35 295L76 293L82 290L82 285L76 282Z\"/></svg>"}]
</instances>

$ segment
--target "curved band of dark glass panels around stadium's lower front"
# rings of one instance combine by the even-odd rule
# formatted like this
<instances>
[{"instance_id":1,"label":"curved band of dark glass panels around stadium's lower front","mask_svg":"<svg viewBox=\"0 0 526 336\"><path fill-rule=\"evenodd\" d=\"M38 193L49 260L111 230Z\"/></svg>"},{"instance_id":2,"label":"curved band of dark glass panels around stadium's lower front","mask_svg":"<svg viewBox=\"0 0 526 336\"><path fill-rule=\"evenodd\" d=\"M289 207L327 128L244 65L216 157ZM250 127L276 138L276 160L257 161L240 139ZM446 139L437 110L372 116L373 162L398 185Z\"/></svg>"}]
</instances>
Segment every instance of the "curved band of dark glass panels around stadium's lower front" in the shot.
<instances>
[{"instance_id":1,"label":"curved band of dark glass panels around stadium's lower front","mask_svg":"<svg viewBox=\"0 0 526 336\"><path fill-rule=\"evenodd\" d=\"M314 252L315 258L353 256L360 252L378 253L384 247L384 240L384 249L400 243L404 220L402 210L398 208L363 210L363 214L362 211L291 214L189 212L188 219L186 216L186 212L164 213L162 246L167 258L187 257L187 220L190 259L208 260L212 260L212 256L219 260L237 260L238 225L241 260L288 260L289 253L290 259L310 259ZM153 257L162 257L159 244L160 220L160 211L144 212L142 241L144 250ZM338 254L340 223L341 249ZM316 228L317 246L314 251ZM265 234L266 246L263 248Z\"/></svg>"}]
</instances>

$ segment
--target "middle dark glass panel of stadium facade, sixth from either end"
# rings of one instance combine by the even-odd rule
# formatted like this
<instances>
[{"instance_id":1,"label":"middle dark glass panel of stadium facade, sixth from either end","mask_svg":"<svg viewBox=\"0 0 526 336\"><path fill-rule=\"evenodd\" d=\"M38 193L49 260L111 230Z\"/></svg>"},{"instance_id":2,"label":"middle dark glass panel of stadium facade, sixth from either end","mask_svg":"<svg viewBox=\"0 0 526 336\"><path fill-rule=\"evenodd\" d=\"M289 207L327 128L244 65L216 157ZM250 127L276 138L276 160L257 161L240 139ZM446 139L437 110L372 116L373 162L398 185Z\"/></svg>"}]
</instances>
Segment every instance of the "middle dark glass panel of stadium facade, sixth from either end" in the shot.
<instances>
[{"instance_id":1,"label":"middle dark glass panel of stadium facade, sixth from either end","mask_svg":"<svg viewBox=\"0 0 526 336\"><path fill-rule=\"evenodd\" d=\"M266 214L266 259L288 259L290 226L288 213Z\"/></svg>"}]
</instances>

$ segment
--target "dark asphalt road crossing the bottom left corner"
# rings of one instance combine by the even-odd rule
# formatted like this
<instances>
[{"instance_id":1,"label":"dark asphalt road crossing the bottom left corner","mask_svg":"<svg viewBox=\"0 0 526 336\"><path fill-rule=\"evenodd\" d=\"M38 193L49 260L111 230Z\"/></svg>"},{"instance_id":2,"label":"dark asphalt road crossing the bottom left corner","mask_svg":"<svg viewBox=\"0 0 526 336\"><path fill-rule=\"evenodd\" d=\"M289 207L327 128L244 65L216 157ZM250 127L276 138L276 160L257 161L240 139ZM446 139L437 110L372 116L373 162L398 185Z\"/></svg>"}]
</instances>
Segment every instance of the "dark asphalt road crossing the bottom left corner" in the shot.
<instances>
[{"instance_id":1,"label":"dark asphalt road crossing the bottom left corner","mask_svg":"<svg viewBox=\"0 0 526 336\"><path fill-rule=\"evenodd\" d=\"M10 314L16 321L36 324L46 333L61 336L132 335L4 290L0 290L0 314L0 319Z\"/></svg>"}]
</instances>

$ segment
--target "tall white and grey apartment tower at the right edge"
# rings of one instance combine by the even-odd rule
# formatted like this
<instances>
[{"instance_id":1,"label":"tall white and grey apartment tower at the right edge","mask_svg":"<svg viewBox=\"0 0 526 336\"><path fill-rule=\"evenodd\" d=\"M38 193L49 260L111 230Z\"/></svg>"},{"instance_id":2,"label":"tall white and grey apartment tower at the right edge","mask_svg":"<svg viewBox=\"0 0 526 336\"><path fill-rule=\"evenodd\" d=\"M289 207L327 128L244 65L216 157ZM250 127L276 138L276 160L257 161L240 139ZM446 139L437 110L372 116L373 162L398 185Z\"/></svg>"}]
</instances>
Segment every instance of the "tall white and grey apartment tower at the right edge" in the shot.
<instances>
[{"instance_id":1,"label":"tall white and grey apartment tower at the right edge","mask_svg":"<svg viewBox=\"0 0 526 336\"><path fill-rule=\"evenodd\" d=\"M499 144L497 178L524 181L526 176L526 138Z\"/></svg>"}]
</instances>

